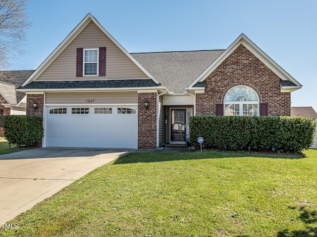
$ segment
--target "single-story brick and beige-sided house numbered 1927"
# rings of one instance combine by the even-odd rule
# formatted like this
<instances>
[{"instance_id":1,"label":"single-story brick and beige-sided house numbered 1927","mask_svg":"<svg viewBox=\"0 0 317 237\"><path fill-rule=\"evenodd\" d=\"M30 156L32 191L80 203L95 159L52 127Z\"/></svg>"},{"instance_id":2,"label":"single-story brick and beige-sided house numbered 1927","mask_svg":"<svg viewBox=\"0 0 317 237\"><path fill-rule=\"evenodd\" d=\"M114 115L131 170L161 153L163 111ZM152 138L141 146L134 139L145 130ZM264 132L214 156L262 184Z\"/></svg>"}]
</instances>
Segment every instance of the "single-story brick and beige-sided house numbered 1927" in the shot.
<instances>
[{"instance_id":1,"label":"single-story brick and beige-sided house numbered 1927","mask_svg":"<svg viewBox=\"0 0 317 237\"><path fill-rule=\"evenodd\" d=\"M130 54L88 14L18 91L44 117L44 147L143 149L185 144L190 116L290 116L300 88L243 34L225 50Z\"/></svg>"}]
</instances>

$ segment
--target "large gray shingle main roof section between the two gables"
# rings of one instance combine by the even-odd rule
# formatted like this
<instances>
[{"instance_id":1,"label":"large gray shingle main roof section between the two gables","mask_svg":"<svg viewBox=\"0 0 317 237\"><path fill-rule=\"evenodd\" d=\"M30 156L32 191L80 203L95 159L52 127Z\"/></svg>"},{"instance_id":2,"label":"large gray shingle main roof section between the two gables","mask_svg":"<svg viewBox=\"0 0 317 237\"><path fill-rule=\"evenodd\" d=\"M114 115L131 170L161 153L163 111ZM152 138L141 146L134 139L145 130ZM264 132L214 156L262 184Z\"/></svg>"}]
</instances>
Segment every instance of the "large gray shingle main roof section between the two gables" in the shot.
<instances>
[{"instance_id":1,"label":"large gray shingle main roof section between the two gables","mask_svg":"<svg viewBox=\"0 0 317 237\"><path fill-rule=\"evenodd\" d=\"M171 92L182 93L224 50L131 53Z\"/></svg>"}]
</instances>

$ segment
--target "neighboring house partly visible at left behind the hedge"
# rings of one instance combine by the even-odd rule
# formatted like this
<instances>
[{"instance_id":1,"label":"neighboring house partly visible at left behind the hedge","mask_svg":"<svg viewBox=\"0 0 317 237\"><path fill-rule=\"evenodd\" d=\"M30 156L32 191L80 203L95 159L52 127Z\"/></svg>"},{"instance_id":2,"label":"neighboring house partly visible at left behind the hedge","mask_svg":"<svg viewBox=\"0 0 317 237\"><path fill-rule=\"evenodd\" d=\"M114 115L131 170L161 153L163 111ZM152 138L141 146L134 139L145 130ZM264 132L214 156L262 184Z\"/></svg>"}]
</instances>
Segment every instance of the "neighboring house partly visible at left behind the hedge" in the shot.
<instances>
[{"instance_id":1,"label":"neighboring house partly visible at left behind the hedge","mask_svg":"<svg viewBox=\"0 0 317 237\"><path fill-rule=\"evenodd\" d=\"M34 72L28 71L2 71L0 74L0 137L3 137L2 115L25 115L26 94L16 91L30 75Z\"/></svg>"}]
</instances>

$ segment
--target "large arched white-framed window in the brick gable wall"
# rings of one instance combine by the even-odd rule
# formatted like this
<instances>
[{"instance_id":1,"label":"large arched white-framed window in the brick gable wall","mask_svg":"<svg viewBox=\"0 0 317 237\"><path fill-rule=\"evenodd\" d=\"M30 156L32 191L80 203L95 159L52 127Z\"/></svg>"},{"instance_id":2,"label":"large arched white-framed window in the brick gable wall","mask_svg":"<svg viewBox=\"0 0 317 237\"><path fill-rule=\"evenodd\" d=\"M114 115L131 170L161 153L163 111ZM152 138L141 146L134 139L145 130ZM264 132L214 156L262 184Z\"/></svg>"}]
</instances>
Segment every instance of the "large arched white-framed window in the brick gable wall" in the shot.
<instances>
[{"instance_id":1,"label":"large arched white-framed window in the brick gable wall","mask_svg":"<svg viewBox=\"0 0 317 237\"><path fill-rule=\"evenodd\" d=\"M259 97L248 86L235 86L224 97L225 116L259 116Z\"/></svg>"}]
</instances>

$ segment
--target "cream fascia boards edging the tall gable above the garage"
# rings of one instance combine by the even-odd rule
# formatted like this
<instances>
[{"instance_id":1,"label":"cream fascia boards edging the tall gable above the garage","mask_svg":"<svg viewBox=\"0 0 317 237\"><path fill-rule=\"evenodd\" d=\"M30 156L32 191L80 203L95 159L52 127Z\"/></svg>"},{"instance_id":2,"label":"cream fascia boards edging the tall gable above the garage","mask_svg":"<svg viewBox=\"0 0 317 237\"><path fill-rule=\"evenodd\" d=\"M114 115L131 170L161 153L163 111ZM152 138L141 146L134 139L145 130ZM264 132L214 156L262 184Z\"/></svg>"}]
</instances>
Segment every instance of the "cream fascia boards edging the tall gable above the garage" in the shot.
<instances>
[{"instance_id":1,"label":"cream fascia boards edging the tall gable above the garage","mask_svg":"<svg viewBox=\"0 0 317 237\"><path fill-rule=\"evenodd\" d=\"M42 74L44 70L53 62L53 60L56 59L56 57L69 45L69 43L72 40L74 40L79 35L79 33L91 21L93 21L104 32L104 34L110 40L112 40L113 43L116 44L116 46L118 46L120 50L123 51L126 54L126 56L131 59L133 63L135 63L140 68L142 72L144 72L150 79L159 84L159 81L155 79L138 61L136 61L135 58L133 58L131 54L106 31L106 29L96 20L96 18L93 17L91 13L89 13L21 86L27 85L29 82L34 81L40 74Z\"/></svg>"}]
</instances>

